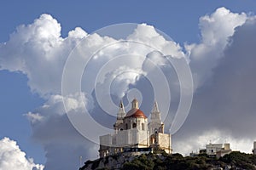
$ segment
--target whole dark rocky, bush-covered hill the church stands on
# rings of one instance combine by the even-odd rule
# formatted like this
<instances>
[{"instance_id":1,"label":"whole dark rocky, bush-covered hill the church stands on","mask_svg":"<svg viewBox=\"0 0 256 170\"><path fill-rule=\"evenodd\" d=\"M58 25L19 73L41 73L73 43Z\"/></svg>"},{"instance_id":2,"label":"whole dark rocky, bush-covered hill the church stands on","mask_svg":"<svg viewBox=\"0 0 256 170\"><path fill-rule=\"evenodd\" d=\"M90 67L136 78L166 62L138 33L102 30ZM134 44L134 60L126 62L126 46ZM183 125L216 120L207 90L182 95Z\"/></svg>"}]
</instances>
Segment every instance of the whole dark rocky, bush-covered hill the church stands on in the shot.
<instances>
[{"instance_id":1,"label":"whole dark rocky, bush-covered hill the church stands on","mask_svg":"<svg viewBox=\"0 0 256 170\"><path fill-rule=\"evenodd\" d=\"M114 155L106 156L95 161L86 161L84 167L87 169L252 169L256 170L256 156L241 152L231 152L229 155L219 159L199 155L195 157L180 154L167 155L147 154L141 156Z\"/></svg>"}]
</instances>

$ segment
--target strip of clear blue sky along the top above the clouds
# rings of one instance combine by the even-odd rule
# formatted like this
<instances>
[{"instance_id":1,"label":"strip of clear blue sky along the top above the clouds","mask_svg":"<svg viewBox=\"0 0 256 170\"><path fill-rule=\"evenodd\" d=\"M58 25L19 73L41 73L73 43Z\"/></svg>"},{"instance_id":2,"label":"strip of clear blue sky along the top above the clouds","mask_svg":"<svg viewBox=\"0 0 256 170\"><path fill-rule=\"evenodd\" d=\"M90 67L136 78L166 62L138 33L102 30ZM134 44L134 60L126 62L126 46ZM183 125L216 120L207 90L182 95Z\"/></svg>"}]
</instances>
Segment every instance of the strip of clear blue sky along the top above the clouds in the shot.
<instances>
[{"instance_id":1,"label":"strip of clear blue sky along the top above the clouds","mask_svg":"<svg viewBox=\"0 0 256 170\"><path fill-rule=\"evenodd\" d=\"M62 36L76 26L86 31L96 31L104 26L131 22L157 26L177 42L198 41L198 20L204 14L211 14L216 8L230 8L233 12L253 12L255 2L251 1L16 1L1 5L1 41L7 41L16 26L29 24L40 14L53 15L62 26ZM189 29L189 31L188 31ZM180 33L182 32L182 33Z\"/></svg>"}]
</instances>

